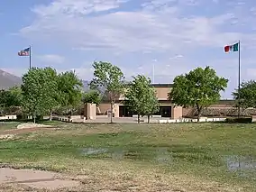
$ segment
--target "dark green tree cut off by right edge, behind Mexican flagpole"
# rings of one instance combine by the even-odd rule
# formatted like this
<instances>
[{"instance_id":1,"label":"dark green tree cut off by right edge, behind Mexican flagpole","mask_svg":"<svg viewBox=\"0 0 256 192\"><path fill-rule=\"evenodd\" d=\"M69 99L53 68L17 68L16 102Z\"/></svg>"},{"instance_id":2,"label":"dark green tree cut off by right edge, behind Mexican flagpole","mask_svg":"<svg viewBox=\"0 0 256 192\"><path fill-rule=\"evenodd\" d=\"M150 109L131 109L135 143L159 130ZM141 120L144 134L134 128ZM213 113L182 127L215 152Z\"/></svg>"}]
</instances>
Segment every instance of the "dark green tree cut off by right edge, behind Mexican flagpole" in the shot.
<instances>
[{"instance_id":1,"label":"dark green tree cut off by right edge, behind Mexican flagpole","mask_svg":"<svg viewBox=\"0 0 256 192\"><path fill-rule=\"evenodd\" d=\"M233 98L238 101L239 95L238 90L233 92ZM256 81L250 80L247 82L242 82L240 88L240 106L243 109L249 107L256 107Z\"/></svg>"}]
</instances>

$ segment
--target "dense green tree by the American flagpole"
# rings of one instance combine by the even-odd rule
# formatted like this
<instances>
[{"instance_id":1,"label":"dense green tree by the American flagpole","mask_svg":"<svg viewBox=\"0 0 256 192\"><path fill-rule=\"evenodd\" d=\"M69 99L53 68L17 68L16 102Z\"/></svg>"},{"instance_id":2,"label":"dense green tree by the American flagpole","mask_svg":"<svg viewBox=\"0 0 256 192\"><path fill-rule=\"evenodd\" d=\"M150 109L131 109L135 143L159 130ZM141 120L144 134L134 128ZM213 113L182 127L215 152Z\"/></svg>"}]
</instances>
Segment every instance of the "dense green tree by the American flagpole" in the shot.
<instances>
[{"instance_id":1,"label":"dense green tree by the American flagpole","mask_svg":"<svg viewBox=\"0 0 256 192\"><path fill-rule=\"evenodd\" d=\"M32 68L23 75L23 107L34 123L36 116L51 113L59 105L57 77L56 70L51 68Z\"/></svg>"}]
</instances>

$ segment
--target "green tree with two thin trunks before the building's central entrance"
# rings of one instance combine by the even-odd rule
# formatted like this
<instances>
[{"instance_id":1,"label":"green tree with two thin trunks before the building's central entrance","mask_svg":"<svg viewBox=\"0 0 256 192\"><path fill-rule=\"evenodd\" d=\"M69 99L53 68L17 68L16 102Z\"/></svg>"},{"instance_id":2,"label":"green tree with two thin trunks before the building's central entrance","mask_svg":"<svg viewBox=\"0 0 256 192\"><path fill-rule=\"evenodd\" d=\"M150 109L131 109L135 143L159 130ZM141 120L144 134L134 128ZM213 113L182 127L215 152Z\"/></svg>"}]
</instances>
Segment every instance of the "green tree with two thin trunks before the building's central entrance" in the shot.
<instances>
[{"instance_id":1,"label":"green tree with two thin trunks before the building's central entrance","mask_svg":"<svg viewBox=\"0 0 256 192\"><path fill-rule=\"evenodd\" d=\"M125 93L125 105L128 105L133 113L138 114L138 123L140 116L147 115L150 123L151 114L159 110L159 103L156 92L151 86L151 79L138 75L133 77L133 82L129 85Z\"/></svg>"}]
</instances>

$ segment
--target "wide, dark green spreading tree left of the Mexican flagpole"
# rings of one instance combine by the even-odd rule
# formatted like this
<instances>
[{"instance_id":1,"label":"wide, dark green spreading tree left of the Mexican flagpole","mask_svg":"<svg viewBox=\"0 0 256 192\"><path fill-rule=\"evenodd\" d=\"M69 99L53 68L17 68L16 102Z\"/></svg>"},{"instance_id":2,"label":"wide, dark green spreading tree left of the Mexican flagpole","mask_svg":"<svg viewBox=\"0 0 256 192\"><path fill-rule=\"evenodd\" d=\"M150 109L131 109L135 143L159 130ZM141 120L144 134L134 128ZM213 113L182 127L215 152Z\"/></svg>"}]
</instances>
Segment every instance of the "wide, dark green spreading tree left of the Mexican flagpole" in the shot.
<instances>
[{"instance_id":1,"label":"wide, dark green spreading tree left of the Mexican flagpole","mask_svg":"<svg viewBox=\"0 0 256 192\"><path fill-rule=\"evenodd\" d=\"M196 107L199 122L202 109L220 99L227 83L228 79L216 76L215 69L197 68L174 78L169 100L175 105Z\"/></svg>"}]
</instances>

